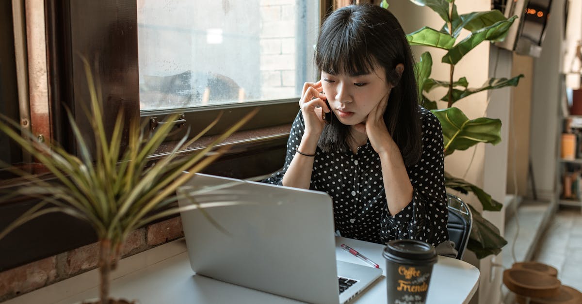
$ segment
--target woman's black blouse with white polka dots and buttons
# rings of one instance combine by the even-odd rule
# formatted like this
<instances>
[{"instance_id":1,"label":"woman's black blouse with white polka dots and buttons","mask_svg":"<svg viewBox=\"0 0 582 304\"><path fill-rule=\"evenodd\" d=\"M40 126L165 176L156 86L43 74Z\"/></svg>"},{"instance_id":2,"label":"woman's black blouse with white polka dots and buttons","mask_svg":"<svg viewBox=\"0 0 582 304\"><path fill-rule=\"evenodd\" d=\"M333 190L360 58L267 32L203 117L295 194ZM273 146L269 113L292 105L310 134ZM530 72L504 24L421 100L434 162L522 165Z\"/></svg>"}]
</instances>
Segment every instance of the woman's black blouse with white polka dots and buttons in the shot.
<instances>
[{"instance_id":1,"label":"woman's black blouse with white polka dots and buttons","mask_svg":"<svg viewBox=\"0 0 582 304\"><path fill-rule=\"evenodd\" d=\"M418 239L435 246L448 239L441 124L427 109L419 106L419 111L423 153L415 165L407 167L413 199L395 215L388 211L380 158L369 141L356 154L350 149L315 151L310 189L332 197L335 229L341 236L375 243ZM289 134L283 169L263 182L282 184L304 126L299 111Z\"/></svg>"}]
</instances>

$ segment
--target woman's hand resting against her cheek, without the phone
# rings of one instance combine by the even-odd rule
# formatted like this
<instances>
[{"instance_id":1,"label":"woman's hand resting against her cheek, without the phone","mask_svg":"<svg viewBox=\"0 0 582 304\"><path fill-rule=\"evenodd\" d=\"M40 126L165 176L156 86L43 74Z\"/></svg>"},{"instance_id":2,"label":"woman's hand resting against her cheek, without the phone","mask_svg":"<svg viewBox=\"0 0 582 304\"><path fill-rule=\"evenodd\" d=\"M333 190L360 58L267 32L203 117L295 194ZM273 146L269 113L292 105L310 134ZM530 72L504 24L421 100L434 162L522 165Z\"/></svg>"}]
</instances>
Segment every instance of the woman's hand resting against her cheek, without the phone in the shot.
<instances>
[{"instance_id":1,"label":"woman's hand resting against her cheek, without the phone","mask_svg":"<svg viewBox=\"0 0 582 304\"><path fill-rule=\"evenodd\" d=\"M386 105L388 105L388 94L370 111L365 122L354 126L357 132L365 133L368 136L372 148L380 155L388 153L392 145L396 144L386 128L386 123L384 123Z\"/></svg>"}]
</instances>

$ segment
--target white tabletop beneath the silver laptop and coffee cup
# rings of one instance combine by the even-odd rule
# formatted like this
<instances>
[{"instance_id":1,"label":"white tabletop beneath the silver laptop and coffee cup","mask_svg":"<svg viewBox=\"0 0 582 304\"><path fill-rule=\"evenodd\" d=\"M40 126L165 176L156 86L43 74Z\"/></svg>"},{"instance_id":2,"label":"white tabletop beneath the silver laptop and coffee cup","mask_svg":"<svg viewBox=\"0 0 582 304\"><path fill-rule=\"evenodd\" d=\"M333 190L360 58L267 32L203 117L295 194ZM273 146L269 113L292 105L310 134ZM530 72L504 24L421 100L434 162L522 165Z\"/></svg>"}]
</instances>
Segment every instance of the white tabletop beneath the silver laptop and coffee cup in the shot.
<instances>
[{"instance_id":1,"label":"white tabletop beneath the silver laptop and coffee cup","mask_svg":"<svg viewBox=\"0 0 582 304\"><path fill-rule=\"evenodd\" d=\"M384 246L336 238L338 260L368 266L364 261L342 250L345 243L364 256L384 267ZM385 303L386 280L375 281L352 303ZM300 303L288 298L255 291L210 278L194 275L190 268L183 240L174 241L120 261L120 268L113 273L111 295L116 298L139 299L149 303ZM467 303L477 290L479 270L469 263L450 257L439 256L432 274L427 303ZM454 284L454 288L452 288ZM5 302L70 304L98 295L97 271L77 275Z\"/></svg>"}]
</instances>

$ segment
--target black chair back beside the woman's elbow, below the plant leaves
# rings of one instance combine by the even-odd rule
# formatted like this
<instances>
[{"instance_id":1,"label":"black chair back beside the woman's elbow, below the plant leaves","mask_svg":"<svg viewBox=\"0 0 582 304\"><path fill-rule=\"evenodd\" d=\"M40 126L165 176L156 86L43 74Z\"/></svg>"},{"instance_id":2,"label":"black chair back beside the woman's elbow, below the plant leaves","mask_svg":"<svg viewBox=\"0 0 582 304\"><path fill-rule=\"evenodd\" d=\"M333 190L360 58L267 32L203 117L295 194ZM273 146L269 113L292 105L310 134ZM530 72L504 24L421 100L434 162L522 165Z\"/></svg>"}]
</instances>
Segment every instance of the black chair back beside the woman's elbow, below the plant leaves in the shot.
<instances>
[{"instance_id":1,"label":"black chair back beside the woman's elbow, below the plant leaves","mask_svg":"<svg viewBox=\"0 0 582 304\"><path fill-rule=\"evenodd\" d=\"M449 221L447 228L449 231L449 240L455 242L455 249L457 250L457 259L463 258L467 243L469 243L469 235L471 234L471 227L473 225L473 215L471 209L463 200L452 194L446 194L449 210Z\"/></svg>"}]
</instances>

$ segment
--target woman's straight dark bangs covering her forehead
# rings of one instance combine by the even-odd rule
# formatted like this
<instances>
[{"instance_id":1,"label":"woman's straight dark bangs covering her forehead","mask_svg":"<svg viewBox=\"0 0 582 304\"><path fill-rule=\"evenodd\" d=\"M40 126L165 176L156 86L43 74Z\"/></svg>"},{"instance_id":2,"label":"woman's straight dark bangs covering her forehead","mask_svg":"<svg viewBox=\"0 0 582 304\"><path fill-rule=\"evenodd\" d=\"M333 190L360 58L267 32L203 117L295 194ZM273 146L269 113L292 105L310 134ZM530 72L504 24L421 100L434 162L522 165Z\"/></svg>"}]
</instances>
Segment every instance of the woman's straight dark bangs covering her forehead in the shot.
<instances>
[{"instance_id":1,"label":"woman's straight dark bangs covering her forehead","mask_svg":"<svg viewBox=\"0 0 582 304\"><path fill-rule=\"evenodd\" d=\"M361 19L357 12L343 10L325 20L332 26L322 27L315 48L315 64L323 72L358 76L374 70L377 61L368 51Z\"/></svg>"}]
</instances>

